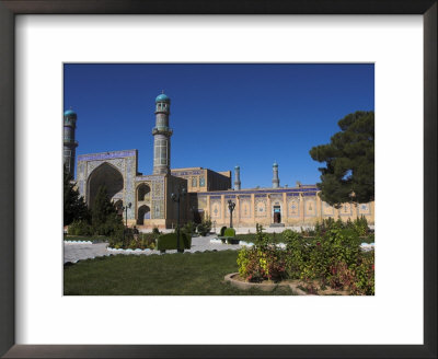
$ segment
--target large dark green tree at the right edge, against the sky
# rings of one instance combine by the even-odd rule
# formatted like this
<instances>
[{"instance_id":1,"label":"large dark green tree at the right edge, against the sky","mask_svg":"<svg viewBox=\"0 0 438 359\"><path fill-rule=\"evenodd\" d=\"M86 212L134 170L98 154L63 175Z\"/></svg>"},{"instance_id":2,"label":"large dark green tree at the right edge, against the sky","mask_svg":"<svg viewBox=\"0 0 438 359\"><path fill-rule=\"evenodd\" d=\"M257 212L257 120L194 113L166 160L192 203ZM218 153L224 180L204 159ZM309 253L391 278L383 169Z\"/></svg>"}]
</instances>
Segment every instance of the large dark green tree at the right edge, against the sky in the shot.
<instances>
[{"instance_id":1,"label":"large dark green tree at the right edge, against the sky","mask_svg":"<svg viewBox=\"0 0 438 359\"><path fill-rule=\"evenodd\" d=\"M341 119L341 131L328 144L313 147L313 160L325 162L320 167L321 198L339 207L350 200L359 204L374 199L374 113L358 111ZM354 197L351 197L354 194Z\"/></svg>"}]
</instances>

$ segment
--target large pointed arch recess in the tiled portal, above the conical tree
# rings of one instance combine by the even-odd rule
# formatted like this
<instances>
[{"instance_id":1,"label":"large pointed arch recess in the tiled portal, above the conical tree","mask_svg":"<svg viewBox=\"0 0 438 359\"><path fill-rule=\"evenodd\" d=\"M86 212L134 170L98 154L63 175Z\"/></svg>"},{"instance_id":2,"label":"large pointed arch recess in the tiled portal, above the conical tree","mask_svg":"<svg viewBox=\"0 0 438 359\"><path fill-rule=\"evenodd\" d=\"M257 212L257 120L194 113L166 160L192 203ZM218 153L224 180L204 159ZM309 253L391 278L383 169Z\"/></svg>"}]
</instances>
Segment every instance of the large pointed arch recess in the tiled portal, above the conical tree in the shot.
<instances>
[{"instance_id":1,"label":"large pointed arch recess in the tiled portal, above the conical tree","mask_svg":"<svg viewBox=\"0 0 438 359\"><path fill-rule=\"evenodd\" d=\"M122 173L112 164L104 162L90 174L88 181L87 204L93 207L99 187L105 186L110 199L116 194L123 195L124 178ZM118 197L118 196L117 196Z\"/></svg>"}]
</instances>

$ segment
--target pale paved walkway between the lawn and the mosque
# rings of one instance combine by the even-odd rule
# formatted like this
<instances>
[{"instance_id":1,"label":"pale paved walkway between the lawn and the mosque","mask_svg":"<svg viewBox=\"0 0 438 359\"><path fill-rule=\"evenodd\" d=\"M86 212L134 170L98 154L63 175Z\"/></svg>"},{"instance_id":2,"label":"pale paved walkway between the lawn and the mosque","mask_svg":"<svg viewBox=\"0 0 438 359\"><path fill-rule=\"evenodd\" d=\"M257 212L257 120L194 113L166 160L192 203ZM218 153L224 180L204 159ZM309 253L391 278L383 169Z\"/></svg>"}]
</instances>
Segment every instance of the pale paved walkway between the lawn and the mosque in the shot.
<instances>
[{"instance_id":1,"label":"pale paved walkway between the lawn and the mosque","mask_svg":"<svg viewBox=\"0 0 438 359\"><path fill-rule=\"evenodd\" d=\"M210 243L211 239L217 238L217 235L208 235L208 236L194 236L192 239L192 248L186 250L185 252L195 253L195 252L206 252L206 251L227 251L227 250L240 250L240 245L232 244L216 244ZM64 263L71 262L77 263L82 259L93 259L95 257L101 257L105 255L152 255L160 254L160 251L120 251L113 252L108 251L107 243L96 243L96 244L87 244L87 243L74 243L74 242L64 242ZM165 254L176 253L176 251L165 251Z\"/></svg>"}]
</instances>

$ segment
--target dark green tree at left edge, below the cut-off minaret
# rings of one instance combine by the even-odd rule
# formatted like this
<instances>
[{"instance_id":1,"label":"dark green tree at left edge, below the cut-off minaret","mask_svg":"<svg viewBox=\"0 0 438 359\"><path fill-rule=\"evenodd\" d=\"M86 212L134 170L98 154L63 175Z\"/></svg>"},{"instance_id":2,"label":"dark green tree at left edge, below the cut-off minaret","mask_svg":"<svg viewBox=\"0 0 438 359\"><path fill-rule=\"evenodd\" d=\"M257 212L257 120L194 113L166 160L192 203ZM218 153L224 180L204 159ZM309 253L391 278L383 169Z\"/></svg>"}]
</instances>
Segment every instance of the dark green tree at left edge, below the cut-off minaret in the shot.
<instances>
[{"instance_id":1,"label":"dark green tree at left edge, below the cut-off minaret","mask_svg":"<svg viewBox=\"0 0 438 359\"><path fill-rule=\"evenodd\" d=\"M64 167L64 225L73 221L90 221L90 211L74 186L73 177Z\"/></svg>"}]
</instances>

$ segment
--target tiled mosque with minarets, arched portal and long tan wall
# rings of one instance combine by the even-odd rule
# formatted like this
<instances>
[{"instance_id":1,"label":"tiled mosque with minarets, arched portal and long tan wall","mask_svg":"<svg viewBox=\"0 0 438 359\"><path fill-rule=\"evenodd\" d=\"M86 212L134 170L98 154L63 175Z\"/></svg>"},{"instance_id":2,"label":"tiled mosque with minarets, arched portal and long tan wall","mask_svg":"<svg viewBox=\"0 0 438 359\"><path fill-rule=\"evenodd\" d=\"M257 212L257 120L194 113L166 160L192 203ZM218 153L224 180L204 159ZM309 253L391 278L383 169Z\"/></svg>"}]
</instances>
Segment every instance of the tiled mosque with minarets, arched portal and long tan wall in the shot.
<instances>
[{"instance_id":1,"label":"tiled mosque with minarets, arched portal and long tan wall","mask_svg":"<svg viewBox=\"0 0 438 359\"><path fill-rule=\"evenodd\" d=\"M334 208L322 201L316 185L280 186L278 164L273 164L273 185L268 188L241 188L240 167L216 172L203 167L171 169L169 127L171 100L164 93L155 99L153 172L138 171L138 150L111 151L78 155L77 188L91 208L100 186L128 225L139 229L174 228L180 220L200 222L209 217L215 227L230 225L229 204L234 204L234 228L288 227L314 224L332 217L343 221L364 216L374 222L374 202L343 204ZM64 163L74 178L77 114L64 114ZM233 184L233 185L232 185ZM178 213L180 212L180 213Z\"/></svg>"}]
</instances>

